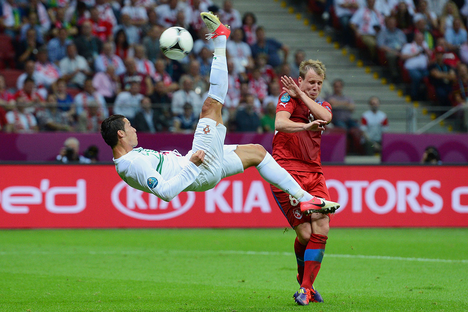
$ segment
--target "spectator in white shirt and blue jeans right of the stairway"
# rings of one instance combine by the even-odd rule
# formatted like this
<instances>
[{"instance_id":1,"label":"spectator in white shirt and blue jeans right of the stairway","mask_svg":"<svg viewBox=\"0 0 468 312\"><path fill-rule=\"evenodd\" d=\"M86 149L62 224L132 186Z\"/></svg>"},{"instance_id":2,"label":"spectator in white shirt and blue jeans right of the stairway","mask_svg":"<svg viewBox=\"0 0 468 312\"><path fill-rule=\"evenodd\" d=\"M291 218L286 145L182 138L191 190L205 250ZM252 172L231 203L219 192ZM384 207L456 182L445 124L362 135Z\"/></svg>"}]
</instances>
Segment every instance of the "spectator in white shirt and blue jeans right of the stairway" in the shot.
<instances>
[{"instance_id":1,"label":"spectator in white shirt and blue jeans right of the stairway","mask_svg":"<svg viewBox=\"0 0 468 312\"><path fill-rule=\"evenodd\" d=\"M421 98L420 84L424 77L429 75L428 63L429 50L424 36L420 32L414 35L411 43L403 45L401 58L404 61L403 67L408 71L411 77L410 94L413 100Z\"/></svg>"}]
</instances>

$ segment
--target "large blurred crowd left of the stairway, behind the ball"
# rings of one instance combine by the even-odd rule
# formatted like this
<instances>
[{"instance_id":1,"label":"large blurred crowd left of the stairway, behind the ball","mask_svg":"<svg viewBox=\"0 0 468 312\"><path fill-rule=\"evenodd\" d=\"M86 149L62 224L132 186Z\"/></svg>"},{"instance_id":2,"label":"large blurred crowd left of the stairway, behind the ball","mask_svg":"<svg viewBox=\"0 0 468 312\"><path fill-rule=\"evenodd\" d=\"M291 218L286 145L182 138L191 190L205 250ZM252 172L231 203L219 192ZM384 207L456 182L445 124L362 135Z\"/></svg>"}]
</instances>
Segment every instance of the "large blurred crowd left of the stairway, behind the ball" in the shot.
<instances>
[{"instance_id":1,"label":"large blurred crowd left of the stairway, behind the ball","mask_svg":"<svg viewBox=\"0 0 468 312\"><path fill-rule=\"evenodd\" d=\"M288 47L268 37L254 14L241 17L231 0L222 7L210 0L1 0L0 131L94 132L110 114L123 114L138 131L193 132L213 52L203 11L232 29L228 129L274 131L278 77L296 77L297 63L287 64ZM159 47L171 26L194 39L180 61Z\"/></svg>"}]
</instances>

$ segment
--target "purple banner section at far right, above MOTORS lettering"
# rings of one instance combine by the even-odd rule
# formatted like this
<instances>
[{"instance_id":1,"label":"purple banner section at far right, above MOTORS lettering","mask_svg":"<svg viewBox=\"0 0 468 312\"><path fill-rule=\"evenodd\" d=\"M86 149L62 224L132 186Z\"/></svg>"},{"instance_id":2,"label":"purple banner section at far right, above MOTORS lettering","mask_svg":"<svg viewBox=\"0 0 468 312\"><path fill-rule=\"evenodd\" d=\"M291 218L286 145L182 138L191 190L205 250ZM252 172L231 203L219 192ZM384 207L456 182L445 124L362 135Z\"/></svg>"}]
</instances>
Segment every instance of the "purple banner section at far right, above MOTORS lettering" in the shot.
<instances>
[{"instance_id":1,"label":"purple banner section at far right, above MOTORS lettering","mask_svg":"<svg viewBox=\"0 0 468 312\"><path fill-rule=\"evenodd\" d=\"M420 162L428 146L438 149L442 163L468 163L468 134L384 133L382 162Z\"/></svg>"}]
</instances>

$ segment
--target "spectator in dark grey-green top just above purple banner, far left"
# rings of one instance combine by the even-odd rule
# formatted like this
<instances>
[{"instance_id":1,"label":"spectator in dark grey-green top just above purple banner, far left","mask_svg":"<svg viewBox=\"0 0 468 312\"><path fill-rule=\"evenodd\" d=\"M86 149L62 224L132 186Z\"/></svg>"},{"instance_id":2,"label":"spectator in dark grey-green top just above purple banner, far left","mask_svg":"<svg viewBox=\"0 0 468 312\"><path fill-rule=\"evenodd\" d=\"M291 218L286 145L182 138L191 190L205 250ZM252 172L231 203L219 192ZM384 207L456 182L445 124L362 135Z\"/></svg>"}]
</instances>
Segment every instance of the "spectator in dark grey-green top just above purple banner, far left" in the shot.
<instances>
[{"instance_id":1,"label":"spectator in dark grey-green top just above purple banner, far left","mask_svg":"<svg viewBox=\"0 0 468 312\"><path fill-rule=\"evenodd\" d=\"M36 113L40 131L71 131L69 116L57 108L55 94L47 95L44 109Z\"/></svg>"}]
</instances>

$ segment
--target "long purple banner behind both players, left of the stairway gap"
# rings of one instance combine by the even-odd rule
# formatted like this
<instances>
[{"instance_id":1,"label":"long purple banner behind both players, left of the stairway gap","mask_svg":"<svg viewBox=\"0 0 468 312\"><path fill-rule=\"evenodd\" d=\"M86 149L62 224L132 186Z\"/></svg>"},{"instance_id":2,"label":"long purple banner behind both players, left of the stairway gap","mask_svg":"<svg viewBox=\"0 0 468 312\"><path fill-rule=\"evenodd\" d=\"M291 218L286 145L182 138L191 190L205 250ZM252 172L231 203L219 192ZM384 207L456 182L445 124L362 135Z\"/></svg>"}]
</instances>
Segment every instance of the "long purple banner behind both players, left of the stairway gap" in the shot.
<instances>
[{"instance_id":1,"label":"long purple banner behind both players, left of the stairway gap","mask_svg":"<svg viewBox=\"0 0 468 312\"><path fill-rule=\"evenodd\" d=\"M112 151L100 133L41 132L31 134L0 133L0 161L53 161L64 141L75 137L80 141L80 154L90 146L99 149L99 160L112 161ZM157 151L177 150L181 154L191 149L193 134L139 133L138 146ZM234 132L226 135L225 144L260 144L271 152L273 133ZM346 135L329 132L322 135L322 161L343 162L346 153Z\"/></svg>"}]
</instances>

